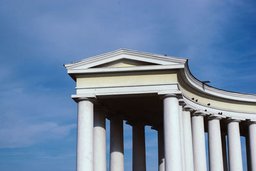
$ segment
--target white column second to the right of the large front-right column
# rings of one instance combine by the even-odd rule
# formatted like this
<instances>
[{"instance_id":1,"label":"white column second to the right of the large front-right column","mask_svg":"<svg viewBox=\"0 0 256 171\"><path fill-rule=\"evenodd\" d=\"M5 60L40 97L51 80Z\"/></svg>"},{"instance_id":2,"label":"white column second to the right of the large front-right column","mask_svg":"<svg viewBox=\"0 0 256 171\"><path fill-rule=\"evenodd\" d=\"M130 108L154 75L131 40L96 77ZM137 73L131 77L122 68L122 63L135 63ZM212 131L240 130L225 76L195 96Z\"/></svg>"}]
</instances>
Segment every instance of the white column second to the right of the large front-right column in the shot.
<instances>
[{"instance_id":1,"label":"white column second to the right of the large front-right column","mask_svg":"<svg viewBox=\"0 0 256 171\"><path fill-rule=\"evenodd\" d=\"M186 171L194 171L191 115L190 115L189 109L183 110L183 124L184 124L184 149L185 149Z\"/></svg>"}]
</instances>

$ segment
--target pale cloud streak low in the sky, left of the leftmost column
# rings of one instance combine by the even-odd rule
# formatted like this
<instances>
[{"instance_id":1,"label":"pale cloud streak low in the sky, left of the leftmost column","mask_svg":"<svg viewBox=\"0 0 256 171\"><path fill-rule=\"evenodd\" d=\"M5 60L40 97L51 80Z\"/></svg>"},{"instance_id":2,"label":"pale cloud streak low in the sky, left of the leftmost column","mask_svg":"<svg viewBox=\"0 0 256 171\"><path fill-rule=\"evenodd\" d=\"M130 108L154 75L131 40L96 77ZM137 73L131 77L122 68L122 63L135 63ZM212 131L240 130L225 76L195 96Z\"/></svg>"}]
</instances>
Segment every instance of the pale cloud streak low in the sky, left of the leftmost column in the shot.
<instances>
[{"instance_id":1,"label":"pale cloud streak low in the sky, left of the leftmost column","mask_svg":"<svg viewBox=\"0 0 256 171\"><path fill-rule=\"evenodd\" d=\"M17 124L17 123L15 123ZM76 124L59 126L56 123L19 123L0 130L0 148L28 147L49 140L58 140L68 135Z\"/></svg>"}]
</instances>

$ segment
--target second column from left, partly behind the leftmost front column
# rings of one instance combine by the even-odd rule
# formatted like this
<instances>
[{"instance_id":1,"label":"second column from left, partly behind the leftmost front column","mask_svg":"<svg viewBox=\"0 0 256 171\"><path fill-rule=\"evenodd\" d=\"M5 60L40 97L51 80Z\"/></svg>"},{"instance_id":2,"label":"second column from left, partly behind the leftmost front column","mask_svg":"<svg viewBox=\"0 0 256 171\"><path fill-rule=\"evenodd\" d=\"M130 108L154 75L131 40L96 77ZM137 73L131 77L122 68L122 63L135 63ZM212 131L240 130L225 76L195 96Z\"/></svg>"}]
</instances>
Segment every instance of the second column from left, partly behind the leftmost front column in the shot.
<instances>
[{"instance_id":1,"label":"second column from left, partly behind the leftmost front column","mask_svg":"<svg viewBox=\"0 0 256 171\"><path fill-rule=\"evenodd\" d=\"M93 171L106 171L106 118L103 110L93 115Z\"/></svg>"}]
</instances>

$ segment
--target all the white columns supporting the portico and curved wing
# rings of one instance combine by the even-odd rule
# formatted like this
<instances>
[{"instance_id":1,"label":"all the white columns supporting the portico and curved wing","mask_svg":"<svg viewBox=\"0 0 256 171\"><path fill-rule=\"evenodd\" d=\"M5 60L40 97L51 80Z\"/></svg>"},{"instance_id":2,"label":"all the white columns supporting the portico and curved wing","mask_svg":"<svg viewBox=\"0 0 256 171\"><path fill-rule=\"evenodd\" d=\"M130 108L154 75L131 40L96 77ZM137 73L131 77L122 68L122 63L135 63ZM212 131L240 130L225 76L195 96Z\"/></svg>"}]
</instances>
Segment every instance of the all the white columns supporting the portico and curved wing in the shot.
<instances>
[{"instance_id":1,"label":"all the white columns supporting the portico and curved wing","mask_svg":"<svg viewBox=\"0 0 256 171\"><path fill-rule=\"evenodd\" d=\"M93 109L88 98L78 100L77 171L106 171L106 118L104 110ZM110 171L124 170L123 119L110 117ZM227 123L226 133L220 121ZM159 171L206 171L205 121L209 143L211 171L243 170L239 123L241 120L207 114L179 102L179 96L163 96L163 125L154 126L158 139ZM246 149L248 168L256 171L256 122L248 121ZM145 123L128 122L132 126L132 170L146 170ZM227 167L228 158L228 167Z\"/></svg>"}]
</instances>

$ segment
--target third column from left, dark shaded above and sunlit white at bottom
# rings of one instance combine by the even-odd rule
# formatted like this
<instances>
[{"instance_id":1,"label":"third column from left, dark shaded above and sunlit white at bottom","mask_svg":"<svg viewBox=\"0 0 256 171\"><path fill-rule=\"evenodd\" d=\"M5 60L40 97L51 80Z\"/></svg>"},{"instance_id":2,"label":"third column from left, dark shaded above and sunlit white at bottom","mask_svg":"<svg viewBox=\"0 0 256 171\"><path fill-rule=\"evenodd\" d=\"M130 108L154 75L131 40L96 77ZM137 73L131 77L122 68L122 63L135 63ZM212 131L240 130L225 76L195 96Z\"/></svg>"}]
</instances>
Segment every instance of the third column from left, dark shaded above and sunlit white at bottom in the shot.
<instances>
[{"instance_id":1,"label":"third column from left, dark shaded above and sunlit white at bottom","mask_svg":"<svg viewBox=\"0 0 256 171\"><path fill-rule=\"evenodd\" d=\"M110 120L110 171L124 171L124 129L122 119Z\"/></svg>"}]
</instances>

